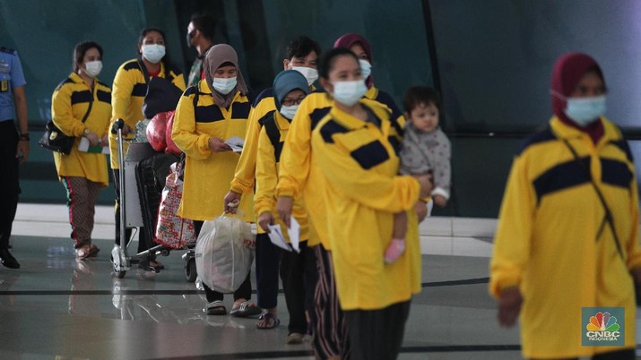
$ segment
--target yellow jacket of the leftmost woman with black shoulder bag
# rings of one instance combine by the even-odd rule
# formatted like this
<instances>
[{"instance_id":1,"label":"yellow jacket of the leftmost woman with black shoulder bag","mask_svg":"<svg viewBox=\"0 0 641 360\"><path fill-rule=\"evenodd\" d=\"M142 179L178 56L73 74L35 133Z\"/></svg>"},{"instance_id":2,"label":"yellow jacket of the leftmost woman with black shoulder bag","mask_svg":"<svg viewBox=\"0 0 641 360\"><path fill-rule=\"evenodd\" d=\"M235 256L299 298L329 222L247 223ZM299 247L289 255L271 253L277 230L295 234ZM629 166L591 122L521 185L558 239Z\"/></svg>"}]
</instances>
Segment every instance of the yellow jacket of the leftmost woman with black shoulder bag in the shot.
<instances>
[{"instance_id":1,"label":"yellow jacket of the leftmost woman with black shoulder bag","mask_svg":"<svg viewBox=\"0 0 641 360\"><path fill-rule=\"evenodd\" d=\"M54 151L54 162L58 177L80 176L107 187L108 169L105 155L78 150L78 144L85 129L100 138L108 132L111 117L111 90L108 85L94 80L91 89L77 73L71 73L54 91L51 98L51 117L63 133L75 136L74 146L69 155ZM91 112L84 123L89 102Z\"/></svg>"}]
</instances>

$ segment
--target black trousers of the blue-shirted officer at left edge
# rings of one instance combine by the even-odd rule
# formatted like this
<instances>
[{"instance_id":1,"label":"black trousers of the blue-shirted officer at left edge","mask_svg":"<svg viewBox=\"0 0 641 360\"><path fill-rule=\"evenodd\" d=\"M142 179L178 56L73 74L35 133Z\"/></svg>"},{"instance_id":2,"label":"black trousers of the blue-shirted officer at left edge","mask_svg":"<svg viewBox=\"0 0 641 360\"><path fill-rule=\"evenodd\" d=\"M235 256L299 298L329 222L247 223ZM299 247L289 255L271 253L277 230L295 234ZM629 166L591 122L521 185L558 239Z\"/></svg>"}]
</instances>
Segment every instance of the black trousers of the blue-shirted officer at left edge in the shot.
<instances>
[{"instance_id":1,"label":"black trousers of the blue-shirted officer at left edge","mask_svg":"<svg viewBox=\"0 0 641 360\"><path fill-rule=\"evenodd\" d=\"M15 211L18 209L18 132L13 120L0 122L0 249L9 247Z\"/></svg>"}]
</instances>

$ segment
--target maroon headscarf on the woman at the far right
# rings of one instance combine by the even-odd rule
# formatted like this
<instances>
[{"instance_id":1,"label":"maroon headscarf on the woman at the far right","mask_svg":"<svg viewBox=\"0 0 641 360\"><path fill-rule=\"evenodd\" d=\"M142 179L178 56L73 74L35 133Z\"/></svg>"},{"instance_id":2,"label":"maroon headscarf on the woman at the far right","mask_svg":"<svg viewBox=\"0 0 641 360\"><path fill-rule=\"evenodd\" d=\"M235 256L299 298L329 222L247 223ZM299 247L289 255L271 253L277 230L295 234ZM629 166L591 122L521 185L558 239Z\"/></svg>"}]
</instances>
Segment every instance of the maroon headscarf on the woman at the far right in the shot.
<instances>
[{"instance_id":1,"label":"maroon headscarf on the woman at the far right","mask_svg":"<svg viewBox=\"0 0 641 360\"><path fill-rule=\"evenodd\" d=\"M559 97L559 94L564 98L569 97L572 91L575 90L578 81L581 81L583 75L591 70L599 74L603 85L605 85L601 67L591 56L582 53L568 53L559 57L559 60L554 64L554 69L552 70L552 112L558 116L564 124L588 133L592 141L596 143L603 135L603 124L601 120L588 124L585 127L576 124L572 119L567 117L565 113L567 106L566 99Z\"/></svg>"}]
</instances>

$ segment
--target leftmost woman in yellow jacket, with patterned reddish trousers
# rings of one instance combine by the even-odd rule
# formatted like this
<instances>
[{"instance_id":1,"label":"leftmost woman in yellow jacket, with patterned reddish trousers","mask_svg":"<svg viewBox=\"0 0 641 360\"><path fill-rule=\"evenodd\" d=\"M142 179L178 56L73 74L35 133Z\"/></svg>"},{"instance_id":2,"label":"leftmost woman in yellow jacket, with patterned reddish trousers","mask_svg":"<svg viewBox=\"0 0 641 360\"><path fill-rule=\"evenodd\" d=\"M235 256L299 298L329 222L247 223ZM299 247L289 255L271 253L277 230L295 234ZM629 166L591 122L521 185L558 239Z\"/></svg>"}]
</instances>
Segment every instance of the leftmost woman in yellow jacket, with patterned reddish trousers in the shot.
<instances>
[{"instance_id":1,"label":"leftmost woman in yellow jacket, with patterned reddish trousers","mask_svg":"<svg viewBox=\"0 0 641 360\"><path fill-rule=\"evenodd\" d=\"M62 81L51 99L54 124L76 140L69 155L54 152L56 171L65 185L69 223L76 256L95 257L91 244L93 216L100 189L108 186L108 170L102 146L107 146L111 117L111 90L96 79L102 69L102 47L85 41L74 48L74 72ZM91 148L79 150L83 141Z\"/></svg>"}]
</instances>

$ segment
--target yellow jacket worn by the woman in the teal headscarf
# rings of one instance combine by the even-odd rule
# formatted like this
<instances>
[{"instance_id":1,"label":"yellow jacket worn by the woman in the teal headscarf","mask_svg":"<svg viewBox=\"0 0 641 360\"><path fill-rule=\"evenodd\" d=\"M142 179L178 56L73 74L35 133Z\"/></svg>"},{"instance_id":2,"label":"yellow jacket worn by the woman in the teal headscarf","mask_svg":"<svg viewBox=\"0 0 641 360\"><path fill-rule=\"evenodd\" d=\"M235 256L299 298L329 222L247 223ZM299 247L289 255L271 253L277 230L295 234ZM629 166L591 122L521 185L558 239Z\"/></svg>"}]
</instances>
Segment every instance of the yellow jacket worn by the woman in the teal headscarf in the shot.
<instances>
[{"instance_id":1,"label":"yellow jacket worn by the woman in the teal headscarf","mask_svg":"<svg viewBox=\"0 0 641 360\"><path fill-rule=\"evenodd\" d=\"M287 231L284 223L278 216L276 211L276 184L278 183L278 168L280 159L276 159L281 155L282 144L287 137L290 130L290 121L287 120L281 113L274 111L273 116L265 119L265 122L270 124L263 124L263 129L258 136L258 151L256 155L256 194L254 195L254 211L256 217L265 211L271 211L274 219L278 224L281 224L283 234L287 236ZM274 132L279 134L278 150L273 147L273 142L269 137L269 127L273 126ZM275 134L275 133L274 133ZM299 239L308 240L308 212L305 210L303 200L297 198L294 201L293 209L291 210L293 216L300 225ZM258 227L259 233L263 233L263 229Z\"/></svg>"}]
</instances>

